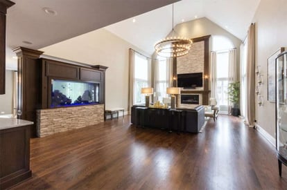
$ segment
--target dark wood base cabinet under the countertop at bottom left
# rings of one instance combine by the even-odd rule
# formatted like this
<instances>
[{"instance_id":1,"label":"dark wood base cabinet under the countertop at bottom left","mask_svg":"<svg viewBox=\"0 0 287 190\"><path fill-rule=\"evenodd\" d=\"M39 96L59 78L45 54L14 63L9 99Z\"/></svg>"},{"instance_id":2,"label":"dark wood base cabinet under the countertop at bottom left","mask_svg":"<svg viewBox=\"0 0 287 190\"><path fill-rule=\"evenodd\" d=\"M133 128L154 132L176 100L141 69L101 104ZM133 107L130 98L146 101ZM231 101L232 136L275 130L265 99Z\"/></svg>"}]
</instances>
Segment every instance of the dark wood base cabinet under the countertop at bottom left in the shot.
<instances>
[{"instance_id":1,"label":"dark wood base cabinet under the countertop at bottom left","mask_svg":"<svg viewBox=\"0 0 287 190\"><path fill-rule=\"evenodd\" d=\"M0 189L31 178L30 129L29 125L0 129Z\"/></svg>"}]
</instances>

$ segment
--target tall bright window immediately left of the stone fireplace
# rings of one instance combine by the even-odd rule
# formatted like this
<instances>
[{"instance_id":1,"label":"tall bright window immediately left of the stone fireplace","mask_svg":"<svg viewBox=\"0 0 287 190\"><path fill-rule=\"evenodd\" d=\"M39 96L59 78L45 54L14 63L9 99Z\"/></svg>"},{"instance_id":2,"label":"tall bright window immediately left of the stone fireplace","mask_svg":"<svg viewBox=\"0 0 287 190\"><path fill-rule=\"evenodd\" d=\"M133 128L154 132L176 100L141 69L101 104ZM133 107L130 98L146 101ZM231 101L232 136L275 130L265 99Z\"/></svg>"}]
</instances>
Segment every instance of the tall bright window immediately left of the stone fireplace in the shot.
<instances>
[{"instance_id":1,"label":"tall bright window immediately left of the stone fireplace","mask_svg":"<svg viewBox=\"0 0 287 190\"><path fill-rule=\"evenodd\" d=\"M169 66L166 59L156 61L155 63L155 97L162 102L166 94L166 88L169 87Z\"/></svg>"}]
</instances>

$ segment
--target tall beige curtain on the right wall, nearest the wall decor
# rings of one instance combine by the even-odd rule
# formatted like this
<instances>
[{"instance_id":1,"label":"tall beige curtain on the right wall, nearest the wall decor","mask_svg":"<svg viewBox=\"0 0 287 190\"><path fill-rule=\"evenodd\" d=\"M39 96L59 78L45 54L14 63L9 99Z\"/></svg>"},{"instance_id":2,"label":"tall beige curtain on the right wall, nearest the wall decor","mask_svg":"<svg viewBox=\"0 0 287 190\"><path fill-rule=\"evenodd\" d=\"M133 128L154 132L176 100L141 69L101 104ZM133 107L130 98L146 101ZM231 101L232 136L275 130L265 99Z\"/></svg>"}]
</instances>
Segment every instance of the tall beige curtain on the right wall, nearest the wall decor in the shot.
<instances>
[{"instance_id":1,"label":"tall beige curtain on the right wall, nearest the wall decor","mask_svg":"<svg viewBox=\"0 0 287 190\"><path fill-rule=\"evenodd\" d=\"M255 24L252 23L247 33L247 83L246 83L246 118L245 124L254 126L255 120Z\"/></svg>"}]
</instances>

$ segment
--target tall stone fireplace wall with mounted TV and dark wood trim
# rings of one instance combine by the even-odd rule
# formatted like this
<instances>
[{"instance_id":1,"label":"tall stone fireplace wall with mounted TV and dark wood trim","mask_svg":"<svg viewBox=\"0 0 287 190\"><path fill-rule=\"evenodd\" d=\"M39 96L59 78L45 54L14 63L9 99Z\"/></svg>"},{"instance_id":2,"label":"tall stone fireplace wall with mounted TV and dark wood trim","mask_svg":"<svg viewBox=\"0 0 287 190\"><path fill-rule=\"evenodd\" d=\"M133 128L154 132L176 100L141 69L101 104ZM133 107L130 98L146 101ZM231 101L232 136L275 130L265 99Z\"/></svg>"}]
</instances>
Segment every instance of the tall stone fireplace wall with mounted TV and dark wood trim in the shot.
<instances>
[{"instance_id":1,"label":"tall stone fireplace wall with mounted TV and dark wood trim","mask_svg":"<svg viewBox=\"0 0 287 190\"><path fill-rule=\"evenodd\" d=\"M177 57L177 87L181 88L177 105L180 107L209 104L209 38L210 35L192 39L189 53Z\"/></svg>"}]
</instances>

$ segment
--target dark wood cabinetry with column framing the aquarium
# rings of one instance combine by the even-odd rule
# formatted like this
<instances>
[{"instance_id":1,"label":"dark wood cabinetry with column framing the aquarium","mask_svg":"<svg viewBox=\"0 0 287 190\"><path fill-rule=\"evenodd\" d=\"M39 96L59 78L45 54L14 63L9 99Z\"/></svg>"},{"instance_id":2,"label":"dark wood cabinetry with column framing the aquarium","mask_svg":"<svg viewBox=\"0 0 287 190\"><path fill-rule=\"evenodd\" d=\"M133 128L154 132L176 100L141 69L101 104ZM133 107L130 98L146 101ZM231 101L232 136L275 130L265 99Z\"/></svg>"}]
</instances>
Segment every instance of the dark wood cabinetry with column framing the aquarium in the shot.
<instances>
[{"instance_id":1,"label":"dark wood cabinetry with column framing the aquarium","mask_svg":"<svg viewBox=\"0 0 287 190\"><path fill-rule=\"evenodd\" d=\"M31 137L37 137L37 109L51 106L51 80L64 79L99 84L99 104L105 104L105 66L67 64L40 59L42 51L18 47L18 104L17 118L34 122Z\"/></svg>"}]
</instances>

